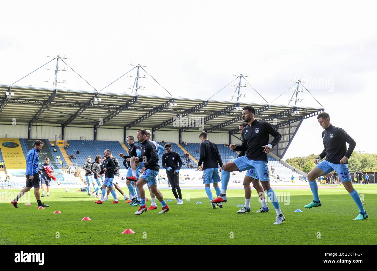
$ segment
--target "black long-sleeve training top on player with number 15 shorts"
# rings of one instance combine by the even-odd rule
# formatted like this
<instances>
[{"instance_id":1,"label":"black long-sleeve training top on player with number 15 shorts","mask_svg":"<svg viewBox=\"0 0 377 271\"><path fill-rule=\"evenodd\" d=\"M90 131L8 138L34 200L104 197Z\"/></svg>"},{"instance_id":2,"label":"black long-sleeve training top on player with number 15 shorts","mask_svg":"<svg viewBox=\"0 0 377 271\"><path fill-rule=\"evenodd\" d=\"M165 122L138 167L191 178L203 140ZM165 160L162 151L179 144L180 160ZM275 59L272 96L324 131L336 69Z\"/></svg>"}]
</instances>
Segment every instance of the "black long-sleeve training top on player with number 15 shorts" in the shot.
<instances>
[{"instance_id":1,"label":"black long-sleeve training top on player with number 15 shorts","mask_svg":"<svg viewBox=\"0 0 377 271\"><path fill-rule=\"evenodd\" d=\"M352 139L342 128L333 125L328 126L322 132L323 146L325 147L319 155L321 159L326 156L326 160L333 164L340 164L340 160L346 156L351 157L356 147L355 140ZM346 142L349 144L348 150Z\"/></svg>"}]
</instances>

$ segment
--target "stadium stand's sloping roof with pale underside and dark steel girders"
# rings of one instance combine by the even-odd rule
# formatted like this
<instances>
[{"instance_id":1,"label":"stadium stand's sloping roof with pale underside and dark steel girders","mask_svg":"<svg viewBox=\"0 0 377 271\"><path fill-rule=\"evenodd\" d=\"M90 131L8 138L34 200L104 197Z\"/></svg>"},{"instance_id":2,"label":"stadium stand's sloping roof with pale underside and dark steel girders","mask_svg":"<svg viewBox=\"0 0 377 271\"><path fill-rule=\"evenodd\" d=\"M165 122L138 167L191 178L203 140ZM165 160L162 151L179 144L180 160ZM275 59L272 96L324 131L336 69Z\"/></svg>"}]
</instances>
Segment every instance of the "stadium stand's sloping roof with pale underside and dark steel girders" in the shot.
<instances>
[{"instance_id":1,"label":"stadium stand's sloping roof with pale underside and dark steel girders","mask_svg":"<svg viewBox=\"0 0 377 271\"><path fill-rule=\"evenodd\" d=\"M7 97L6 92L14 95ZM324 110L298 105L238 104L235 101L0 85L1 122L16 118L17 122L31 124L94 126L101 124L100 119L103 119L103 126L190 130L190 127L179 127L174 122L173 118L181 114L188 118L199 117L199 120L204 118L204 129L208 132L236 132L242 122L241 110L237 108L246 105L259 111L256 119L273 121L277 126L290 120L306 119Z\"/></svg>"}]
</instances>

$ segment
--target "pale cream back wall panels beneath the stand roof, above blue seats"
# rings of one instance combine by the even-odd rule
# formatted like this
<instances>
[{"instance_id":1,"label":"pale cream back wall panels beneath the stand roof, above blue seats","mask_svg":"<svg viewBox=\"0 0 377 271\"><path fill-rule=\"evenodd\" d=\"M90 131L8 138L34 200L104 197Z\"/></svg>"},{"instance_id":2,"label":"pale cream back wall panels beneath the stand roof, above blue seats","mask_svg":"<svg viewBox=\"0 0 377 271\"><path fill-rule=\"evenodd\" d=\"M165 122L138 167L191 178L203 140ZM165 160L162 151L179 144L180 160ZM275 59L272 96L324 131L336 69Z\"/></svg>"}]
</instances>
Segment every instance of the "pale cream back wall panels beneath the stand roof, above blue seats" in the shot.
<instances>
[{"instance_id":1,"label":"pale cream back wall panels beneath the stand roof, above blue seats","mask_svg":"<svg viewBox=\"0 0 377 271\"><path fill-rule=\"evenodd\" d=\"M138 129L127 130L127 136L135 136ZM193 129L191 132L182 132L182 140L188 143L200 143L199 133L202 130ZM114 140L123 142L123 127L109 126L106 128L97 129L97 140ZM58 125L45 125L36 123L31 127L31 139L48 139L55 140L55 135L61 135L61 126ZM67 126L64 130L64 140L80 140L80 137L86 137L87 140L94 140L94 128L93 126ZM16 125L0 123L0 138L28 138L28 123L16 123ZM241 144L241 140L238 139L239 135L235 134L231 140L234 144ZM229 135L227 132L210 132L208 133L208 139L217 144L228 143ZM178 131L156 131L155 140L157 142L174 142L180 143Z\"/></svg>"}]
</instances>

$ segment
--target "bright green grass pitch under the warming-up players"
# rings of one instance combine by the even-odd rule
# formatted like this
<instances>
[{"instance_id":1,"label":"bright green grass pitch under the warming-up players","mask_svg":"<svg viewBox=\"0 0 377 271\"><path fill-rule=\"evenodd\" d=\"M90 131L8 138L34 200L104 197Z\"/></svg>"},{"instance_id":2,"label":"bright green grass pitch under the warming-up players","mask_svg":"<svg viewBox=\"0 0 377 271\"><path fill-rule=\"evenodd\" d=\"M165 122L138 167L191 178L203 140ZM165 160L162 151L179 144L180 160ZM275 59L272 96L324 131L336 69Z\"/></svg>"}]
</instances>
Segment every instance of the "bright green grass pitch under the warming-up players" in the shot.
<instances>
[{"instance_id":1,"label":"bright green grass pitch under the warming-up players","mask_svg":"<svg viewBox=\"0 0 377 271\"><path fill-rule=\"evenodd\" d=\"M323 206L312 209L303 207L313 200L310 189L275 189L290 194L290 204L281 203L286 217L283 225L272 225L276 213L270 202L270 212L254 213L260 207L255 190L248 214L236 213L240 209L237 205L244 204L241 189L228 190L228 202L222 209L211 208L204 189L182 189L183 205L175 204L171 190L162 189L165 199L173 199L170 211L157 214L161 209L158 204L158 211L147 211L141 216L135 216L137 208L127 203L110 204L111 195L108 202L97 205L93 203L94 197L86 192L72 192L77 190L73 188L70 192L52 189L51 197L42 198L51 207L40 210L31 190L32 206L20 203L16 209L10 200L0 200L0 245L375 245L377 186L355 188L365 197L369 218L363 221L353 220L359 211L343 187L320 189ZM18 191L0 192L1 199L11 198ZM189 201L185 200L187 195ZM198 201L203 204L196 204ZM147 203L150 205L150 201ZM294 212L296 209L303 212ZM56 210L62 214L53 214ZM81 221L85 216L92 221ZM127 228L135 234L121 234ZM55 238L56 232L60 233L59 239ZM231 232L234 238L230 238Z\"/></svg>"}]
</instances>

